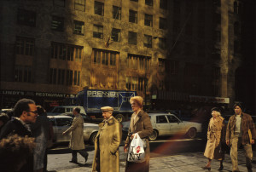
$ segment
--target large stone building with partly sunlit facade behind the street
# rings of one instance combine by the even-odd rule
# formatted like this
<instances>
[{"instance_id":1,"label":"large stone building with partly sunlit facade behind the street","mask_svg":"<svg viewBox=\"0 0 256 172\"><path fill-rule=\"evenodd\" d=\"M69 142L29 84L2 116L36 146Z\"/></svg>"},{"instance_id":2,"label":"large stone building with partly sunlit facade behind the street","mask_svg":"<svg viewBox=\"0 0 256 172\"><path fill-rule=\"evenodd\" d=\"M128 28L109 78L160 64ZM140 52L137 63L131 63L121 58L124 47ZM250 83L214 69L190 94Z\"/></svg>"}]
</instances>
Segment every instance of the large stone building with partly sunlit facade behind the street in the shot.
<instances>
[{"instance_id":1,"label":"large stone building with partly sunlit facade behind the street","mask_svg":"<svg viewBox=\"0 0 256 172\"><path fill-rule=\"evenodd\" d=\"M236 100L242 1L0 5L1 107L29 97L49 109L82 89L136 90L154 109Z\"/></svg>"}]
</instances>

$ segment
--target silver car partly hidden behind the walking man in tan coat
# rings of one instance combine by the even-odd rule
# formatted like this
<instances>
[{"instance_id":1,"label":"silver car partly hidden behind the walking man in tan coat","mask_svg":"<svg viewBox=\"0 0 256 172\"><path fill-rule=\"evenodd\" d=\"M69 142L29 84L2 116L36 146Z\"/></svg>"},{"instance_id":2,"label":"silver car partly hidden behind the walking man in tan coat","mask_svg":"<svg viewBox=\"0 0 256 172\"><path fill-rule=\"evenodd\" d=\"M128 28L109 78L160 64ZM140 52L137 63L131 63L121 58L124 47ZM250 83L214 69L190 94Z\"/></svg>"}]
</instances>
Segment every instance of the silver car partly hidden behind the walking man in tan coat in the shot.
<instances>
[{"instance_id":1,"label":"silver car partly hidden behind the walking man in tan coat","mask_svg":"<svg viewBox=\"0 0 256 172\"><path fill-rule=\"evenodd\" d=\"M68 116L48 116L52 123L54 131L54 143L66 142L70 140L70 135L62 135L73 123L73 118ZM94 144L98 125L95 123L84 123L84 140L89 140L90 144Z\"/></svg>"}]
</instances>

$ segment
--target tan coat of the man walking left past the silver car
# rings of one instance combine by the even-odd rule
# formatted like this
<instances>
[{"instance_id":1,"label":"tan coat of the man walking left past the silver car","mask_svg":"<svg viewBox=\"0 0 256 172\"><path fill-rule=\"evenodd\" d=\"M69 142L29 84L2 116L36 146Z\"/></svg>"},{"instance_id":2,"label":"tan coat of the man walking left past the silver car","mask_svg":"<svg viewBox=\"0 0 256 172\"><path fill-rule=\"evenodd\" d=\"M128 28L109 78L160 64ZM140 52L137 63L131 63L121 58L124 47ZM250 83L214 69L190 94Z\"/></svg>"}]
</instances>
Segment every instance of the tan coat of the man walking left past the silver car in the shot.
<instances>
[{"instance_id":1,"label":"tan coat of the man walking left past the silver car","mask_svg":"<svg viewBox=\"0 0 256 172\"><path fill-rule=\"evenodd\" d=\"M71 133L71 139L69 142L69 148L72 150L82 150L84 146L84 118L78 114L77 117L73 119L73 123L69 129L64 133Z\"/></svg>"}]
</instances>

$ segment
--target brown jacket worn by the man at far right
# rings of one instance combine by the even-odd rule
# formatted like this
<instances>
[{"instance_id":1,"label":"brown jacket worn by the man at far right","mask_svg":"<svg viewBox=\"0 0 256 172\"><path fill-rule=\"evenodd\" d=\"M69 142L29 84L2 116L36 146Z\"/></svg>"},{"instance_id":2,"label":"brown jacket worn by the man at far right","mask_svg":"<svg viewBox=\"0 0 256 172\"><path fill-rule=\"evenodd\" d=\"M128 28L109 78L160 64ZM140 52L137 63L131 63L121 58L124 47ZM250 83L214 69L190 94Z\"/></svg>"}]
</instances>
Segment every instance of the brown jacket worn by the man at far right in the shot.
<instances>
[{"instance_id":1,"label":"brown jacket worn by the man at far right","mask_svg":"<svg viewBox=\"0 0 256 172\"><path fill-rule=\"evenodd\" d=\"M236 128L236 114L230 117L229 123L226 129L226 140L230 140L232 143L232 139L235 135L235 128ZM253 118L248 115L247 113L241 112L241 143L242 145L250 144L248 129L252 132L253 140L256 140L256 131L255 126L253 123Z\"/></svg>"}]
</instances>

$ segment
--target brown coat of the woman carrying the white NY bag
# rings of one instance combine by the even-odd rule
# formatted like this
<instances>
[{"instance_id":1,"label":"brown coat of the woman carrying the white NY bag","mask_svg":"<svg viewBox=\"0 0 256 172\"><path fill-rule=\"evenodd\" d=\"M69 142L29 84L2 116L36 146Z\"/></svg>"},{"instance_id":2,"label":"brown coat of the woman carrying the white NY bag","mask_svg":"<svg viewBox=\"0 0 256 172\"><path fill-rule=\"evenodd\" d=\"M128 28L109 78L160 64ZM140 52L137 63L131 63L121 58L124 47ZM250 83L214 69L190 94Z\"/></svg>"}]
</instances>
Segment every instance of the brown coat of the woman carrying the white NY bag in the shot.
<instances>
[{"instance_id":1,"label":"brown coat of the woman carrying the white NY bag","mask_svg":"<svg viewBox=\"0 0 256 172\"><path fill-rule=\"evenodd\" d=\"M136 121L134 121L134 116L135 113L133 113L131 115L131 123L130 123L130 129L129 129L129 133L127 136L127 139L125 140L125 144L128 144L128 147L130 147L130 143L131 143L131 138L129 135L135 134L137 133L141 139L145 139L146 140L146 145L147 147L145 148L145 162L143 162L143 168L142 169L138 169L135 168L133 169L131 164L134 164L135 166L140 165L140 163L131 163L126 161L126 166L125 166L125 171L136 171L136 169L138 169L139 171L143 172L143 171L148 171L149 170L149 158L150 158L150 148L149 148L149 141L148 141L148 136L152 134L153 132L153 128L152 128L152 124L150 121L150 118L148 116L147 112L144 112L143 110L141 110L138 114L137 114L137 118ZM129 152L129 151L128 151ZM126 158L127 159L127 158Z\"/></svg>"}]
</instances>

